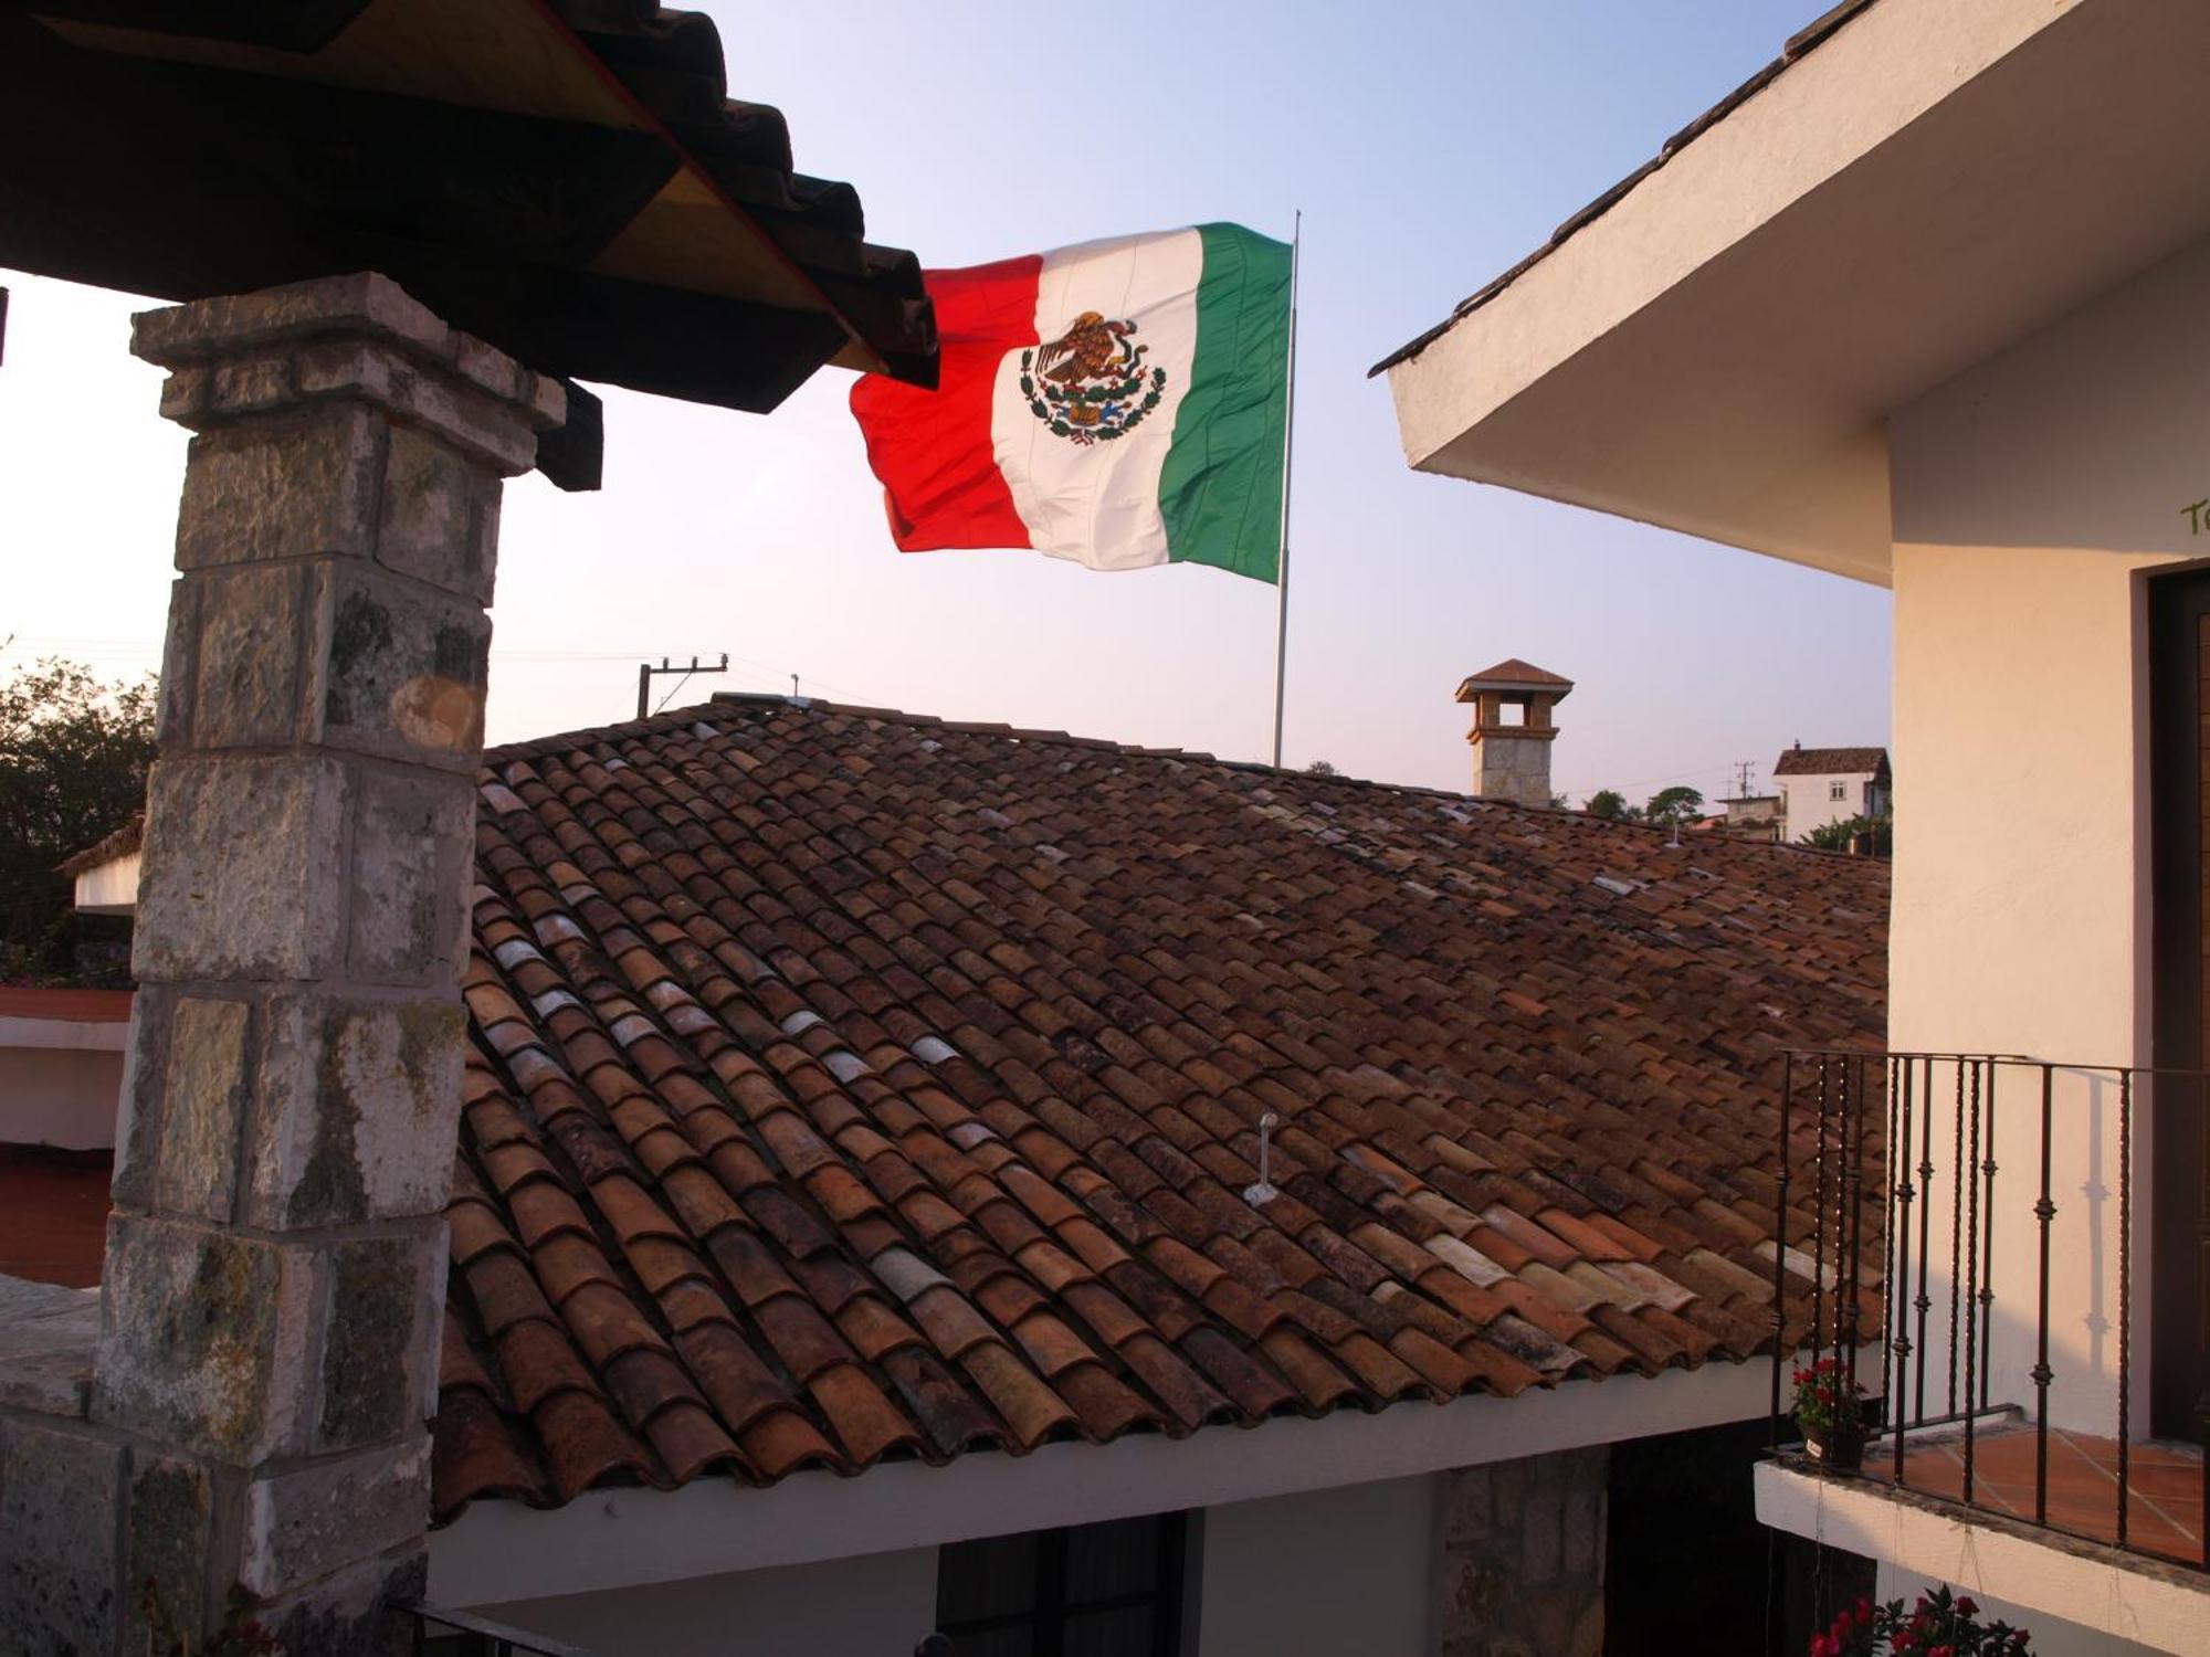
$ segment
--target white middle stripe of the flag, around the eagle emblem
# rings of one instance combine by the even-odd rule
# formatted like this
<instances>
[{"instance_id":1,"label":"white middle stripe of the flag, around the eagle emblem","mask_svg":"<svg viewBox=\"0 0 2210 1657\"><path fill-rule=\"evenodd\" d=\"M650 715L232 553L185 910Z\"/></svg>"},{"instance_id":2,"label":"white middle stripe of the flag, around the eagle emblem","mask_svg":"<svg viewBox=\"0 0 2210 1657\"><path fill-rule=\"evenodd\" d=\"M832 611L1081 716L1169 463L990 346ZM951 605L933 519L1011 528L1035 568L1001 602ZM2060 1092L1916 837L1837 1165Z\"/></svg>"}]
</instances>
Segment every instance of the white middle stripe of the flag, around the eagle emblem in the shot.
<instances>
[{"instance_id":1,"label":"white middle stripe of the flag, around the eagle emblem","mask_svg":"<svg viewBox=\"0 0 2210 1657\"><path fill-rule=\"evenodd\" d=\"M1054 437L1021 395L1021 353L997 369L990 444L1039 552L1092 570L1167 561L1158 473L1174 446L1174 420L1198 353L1198 276L1204 239L1196 230L1116 236L1043 256L1036 278L1036 338L1056 340L1076 316L1098 312L1136 325L1143 367L1167 371L1160 404L1125 437L1076 444Z\"/></svg>"}]
</instances>

